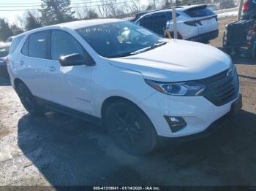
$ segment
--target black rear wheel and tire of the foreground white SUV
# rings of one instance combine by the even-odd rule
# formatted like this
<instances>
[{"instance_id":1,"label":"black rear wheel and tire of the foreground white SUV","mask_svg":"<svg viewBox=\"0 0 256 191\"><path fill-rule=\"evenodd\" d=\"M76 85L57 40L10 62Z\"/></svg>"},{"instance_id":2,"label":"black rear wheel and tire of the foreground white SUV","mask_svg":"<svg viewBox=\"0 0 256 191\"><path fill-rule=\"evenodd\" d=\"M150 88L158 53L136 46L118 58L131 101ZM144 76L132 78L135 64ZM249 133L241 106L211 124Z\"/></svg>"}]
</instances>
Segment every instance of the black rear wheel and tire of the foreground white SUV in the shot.
<instances>
[{"instance_id":1,"label":"black rear wheel and tire of the foreground white SUV","mask_svg":"<svg viewBox=\"0 0 256 191\"><path fill-rule=\"evenodd\" d=\"M19 82L16 86L16 91L20 98L21 103L23 104L24 108L30 114L43 114L42 106L37 104L37 101L34 99L34 95L29 90L29 87L26 87L23 82Z\"/></svg>"}]
</instances>

